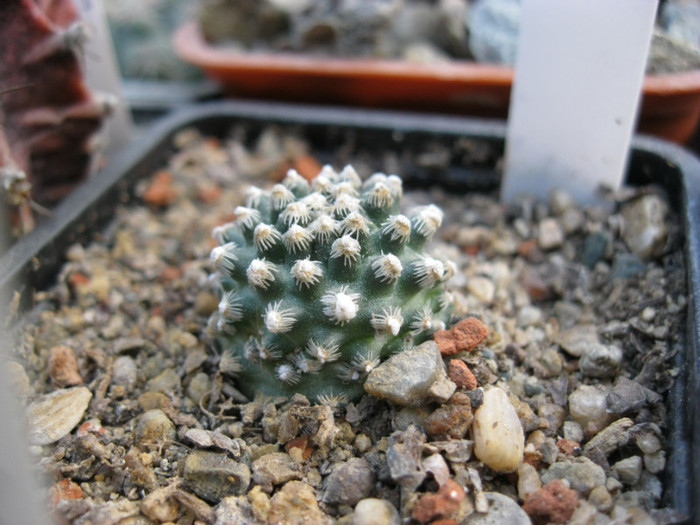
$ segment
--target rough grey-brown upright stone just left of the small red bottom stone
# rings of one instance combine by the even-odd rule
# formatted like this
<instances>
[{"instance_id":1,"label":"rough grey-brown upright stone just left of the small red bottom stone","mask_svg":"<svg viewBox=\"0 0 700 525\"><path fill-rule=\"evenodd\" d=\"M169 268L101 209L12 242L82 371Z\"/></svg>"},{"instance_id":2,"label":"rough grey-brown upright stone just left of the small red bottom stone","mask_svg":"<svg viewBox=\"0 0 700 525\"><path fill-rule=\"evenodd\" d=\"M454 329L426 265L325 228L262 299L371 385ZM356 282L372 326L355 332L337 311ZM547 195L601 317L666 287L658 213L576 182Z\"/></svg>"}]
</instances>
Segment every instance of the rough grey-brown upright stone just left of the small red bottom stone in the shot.
<instances>
[{"instance_id":1,"label":"rough grey-brown upright stone just left of the small red bottom stone","mask_svg":"<svg viewBox=\"0 0 700 525\"><path fill-rule=\"evenodd\" d=\"M425 435L414 426L394 432L386 451L391 478L406 490L416 490L425 479L421 461Z\"/></svg>"}]
</instances>

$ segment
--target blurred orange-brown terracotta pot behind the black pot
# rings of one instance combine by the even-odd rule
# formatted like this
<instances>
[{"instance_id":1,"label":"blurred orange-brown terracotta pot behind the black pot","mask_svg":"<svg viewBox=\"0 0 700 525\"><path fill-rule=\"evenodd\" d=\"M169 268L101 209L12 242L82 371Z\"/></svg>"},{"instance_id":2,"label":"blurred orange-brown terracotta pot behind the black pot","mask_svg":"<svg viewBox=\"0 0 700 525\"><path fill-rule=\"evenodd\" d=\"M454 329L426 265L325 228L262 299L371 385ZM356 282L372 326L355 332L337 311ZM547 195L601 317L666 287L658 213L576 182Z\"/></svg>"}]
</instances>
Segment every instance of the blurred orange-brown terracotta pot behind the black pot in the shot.
<instances>
[{"instance_id":1,"label":"blurred orange-brown terracotta pot behind the black pot","mask_svg":"<svg viewBox=\"0 0 700 525\"><path fill-rule=\"evenodd\" d=\"M174 36L177 54L201 67L230 96L440 111L508 114L513 69L451 62L240 53L212 46L190 22ZM687 142L700 119L700 70L644 80L638 131Z\"/></svg>"}]
</instances>

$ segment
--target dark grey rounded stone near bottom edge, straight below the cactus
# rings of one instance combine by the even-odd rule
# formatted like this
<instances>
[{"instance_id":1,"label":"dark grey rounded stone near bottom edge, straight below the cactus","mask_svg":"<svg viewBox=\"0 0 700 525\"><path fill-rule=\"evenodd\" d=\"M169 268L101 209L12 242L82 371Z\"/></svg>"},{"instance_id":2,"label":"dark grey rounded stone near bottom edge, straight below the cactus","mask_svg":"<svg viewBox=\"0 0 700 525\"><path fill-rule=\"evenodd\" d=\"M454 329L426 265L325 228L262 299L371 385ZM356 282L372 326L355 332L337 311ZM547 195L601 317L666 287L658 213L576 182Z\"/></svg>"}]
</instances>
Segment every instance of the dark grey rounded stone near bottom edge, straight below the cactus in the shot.
<instances>
[{"instance_id":1,"label":"dark grey rounded stone near bottom edge, straight below the cactus","mask_svg":"<svg viewBox=\"0 0 700 525\"><path fill-rule=\"evenodd\" d=\"M323 502L331 505L354 506L369 496L374 488L374 472L363 458L351 458L336 464L326 478Z\"/></svg>"}]
</instances>

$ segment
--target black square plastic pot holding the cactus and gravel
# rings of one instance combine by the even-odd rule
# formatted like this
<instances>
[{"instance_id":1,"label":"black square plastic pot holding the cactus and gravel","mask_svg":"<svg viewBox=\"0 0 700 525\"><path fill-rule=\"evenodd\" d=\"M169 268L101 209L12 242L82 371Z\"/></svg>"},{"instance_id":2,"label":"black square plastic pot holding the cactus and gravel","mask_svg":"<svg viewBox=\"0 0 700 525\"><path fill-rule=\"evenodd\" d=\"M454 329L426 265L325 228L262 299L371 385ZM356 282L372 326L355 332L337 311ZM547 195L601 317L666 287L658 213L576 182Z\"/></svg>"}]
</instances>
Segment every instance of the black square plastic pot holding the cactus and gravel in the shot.
<instances>
[{"instance_id":1,"label":"black square plastic pot holding the cactus and gravel","mask_svg":"<svg viewBox=\"0 0 700 525\"><path fill-rule=\"evenodd\" d=\"M395 112L290 106L255 102L216 102L188 107L166 117L138 143L114 159L97 177L79 187L29 236L0 258L0 297L20 292L20 307L35 291L49 286L65 259L65 249L87 242L128 202L134 182L162 166L173 152L173 135L184 127L224 137L235 123L262 129L270 123L294 128L310 141L322 160L341 134L353 133L367 151L468 139L481 155L470 165L455 162L447 170L413 166L402 173L408 186L441 185L450 191L497 191L497 160L504 149L505 125L465 118ZM474 160L477 159L477 160ZM669 393L669 451L664 505L700 523L700 161L678 146L637 137L632 144L627 183L664 186L683 217L689 294L686 333L675 357L680 371Z\"/></svg>"}]
</instances>

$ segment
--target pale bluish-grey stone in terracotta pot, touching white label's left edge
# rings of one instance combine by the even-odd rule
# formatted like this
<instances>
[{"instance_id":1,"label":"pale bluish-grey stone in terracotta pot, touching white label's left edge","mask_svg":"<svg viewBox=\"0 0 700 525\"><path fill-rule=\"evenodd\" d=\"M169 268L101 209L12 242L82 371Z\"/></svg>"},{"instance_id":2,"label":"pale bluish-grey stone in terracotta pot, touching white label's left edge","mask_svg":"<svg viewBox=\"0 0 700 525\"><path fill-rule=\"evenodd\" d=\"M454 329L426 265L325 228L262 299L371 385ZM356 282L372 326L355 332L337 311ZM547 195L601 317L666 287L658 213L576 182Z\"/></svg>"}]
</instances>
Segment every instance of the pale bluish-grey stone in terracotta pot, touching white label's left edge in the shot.
<instances>
[{"instance_id":1,"label":"pale bluish-grey stone in terracotta pot, touching white label's left edge","mask_svg":"<svg viewBox=\"0 0 700 525\"><path fill-rule=\"evenodd\" d=\"M479 62L515 64L520 31L520 0L479 0L467 19L469 48Z\"/></svg>"}]
</instances>

